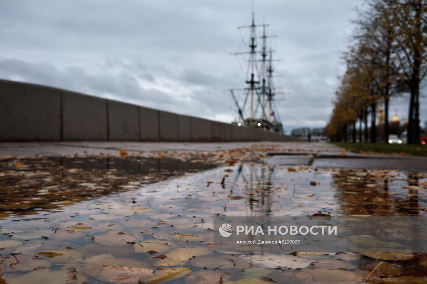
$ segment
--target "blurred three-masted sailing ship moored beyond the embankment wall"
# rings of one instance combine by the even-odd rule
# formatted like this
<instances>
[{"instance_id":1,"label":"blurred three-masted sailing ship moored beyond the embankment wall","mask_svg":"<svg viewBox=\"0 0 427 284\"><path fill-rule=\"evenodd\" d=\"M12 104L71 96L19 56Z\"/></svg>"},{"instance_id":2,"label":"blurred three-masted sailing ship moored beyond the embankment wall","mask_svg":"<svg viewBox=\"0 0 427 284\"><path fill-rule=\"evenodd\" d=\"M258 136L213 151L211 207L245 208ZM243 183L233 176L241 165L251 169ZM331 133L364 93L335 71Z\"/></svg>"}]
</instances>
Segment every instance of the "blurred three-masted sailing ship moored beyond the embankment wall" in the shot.
<instances>
[{"instance_id":1,"label":"blurred three-masted sailing ship moored beyond the embankment wall","mask_svg":"<svg viewBox=\"0 0 427 284\"><path fill-rule=\"evenodd\" d=\"M284 133L283 125L275 104L276 88L273 82L273 62L274 50L267 46L268 38L275 38L275 35L266 35L268 24L255 24L255 14L252 12L252 23L248 26L239 26L238 29L250 29L249 50L236 52L234 55L249 55L246 70L246 87L240 89L230 89L231 96L237 107L239 121L233 122L237 125L246 125L252 128L260 128L272 132ZM257 37L257 29L262 28L263 34ZM261 39L260 49L257 49L257 39ZM257 55L260 58L257 58ZM237 99L236 93L243 92L244 101ZM250 116L244 112L246 104L250 104ZM258 112L260 110L260 112Z\"/></svg>"}]
</instances>

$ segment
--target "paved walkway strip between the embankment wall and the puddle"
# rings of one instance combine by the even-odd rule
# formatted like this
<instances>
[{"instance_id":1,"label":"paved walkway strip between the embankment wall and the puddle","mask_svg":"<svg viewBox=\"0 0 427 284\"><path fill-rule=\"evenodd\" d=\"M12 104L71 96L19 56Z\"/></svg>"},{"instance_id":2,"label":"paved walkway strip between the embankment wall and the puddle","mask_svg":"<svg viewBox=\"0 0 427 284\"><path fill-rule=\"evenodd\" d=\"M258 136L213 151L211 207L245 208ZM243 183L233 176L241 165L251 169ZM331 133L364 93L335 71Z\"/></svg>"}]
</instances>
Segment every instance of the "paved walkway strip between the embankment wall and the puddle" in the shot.
<instances>
[{"instance_id":1,"label":"paved walkway strip between the embankment wall and the puddle","mask_svg":"<svg viewBox=\"0 0 427 284\"><path fill-rule=\"evenodd\" d=\"M327 168L377 168L426 171L427 157L356 154L326 142L2 142L1 156L117 155L120 149L145 154L158 151L214 152L263 148L271 165L314 165Z\"/></svg>"}]
</instances>

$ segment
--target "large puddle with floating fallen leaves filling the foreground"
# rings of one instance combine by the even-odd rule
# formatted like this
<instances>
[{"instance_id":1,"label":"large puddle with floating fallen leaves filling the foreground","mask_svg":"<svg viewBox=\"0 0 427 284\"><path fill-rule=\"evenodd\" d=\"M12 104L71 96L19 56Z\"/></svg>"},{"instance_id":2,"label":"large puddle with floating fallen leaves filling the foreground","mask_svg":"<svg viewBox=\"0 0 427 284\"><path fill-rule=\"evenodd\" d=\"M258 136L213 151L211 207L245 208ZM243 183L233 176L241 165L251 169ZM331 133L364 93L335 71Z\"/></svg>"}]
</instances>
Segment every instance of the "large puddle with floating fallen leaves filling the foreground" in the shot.
<instances>
[{"instance_id":1,"label":"large puddle with floating fallen leaves filling the foreground","mask_svg":"<svg viewBox=\"0 0 427 284\"><path fill-rule=\"evenodd\" d=\"M216 253L212 232L213 217L221 215L425 216L425 173L250 162L202 168L165 160L3 164L2 192L15 204L33 205L9 209L15 215L0 220L7 283L363 283L380 261L369 283L392 276L426 281L423 253L390 260L384 254L287 254L278 246L270 263L307 264L282 270L243 256L244 250ZM163 163L170 168L158 171Z\"/></svg>"}]
</instances>

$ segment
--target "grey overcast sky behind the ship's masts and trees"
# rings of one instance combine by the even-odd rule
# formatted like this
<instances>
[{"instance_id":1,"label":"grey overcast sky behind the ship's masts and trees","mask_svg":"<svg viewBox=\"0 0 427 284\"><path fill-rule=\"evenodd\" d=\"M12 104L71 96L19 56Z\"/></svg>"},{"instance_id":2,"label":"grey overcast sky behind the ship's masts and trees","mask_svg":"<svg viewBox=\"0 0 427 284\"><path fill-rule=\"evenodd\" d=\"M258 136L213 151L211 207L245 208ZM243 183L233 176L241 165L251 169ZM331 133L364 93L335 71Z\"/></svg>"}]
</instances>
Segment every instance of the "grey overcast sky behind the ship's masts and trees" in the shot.
<instances>
[{"instance_id":1,"label":"grey overcast sky behind the ship's masts and trees","mask_svg":"<svg viewBox=\"0 0 427 284\"><path fill-rule=\"evenodd\" d=\"M361 0L263 0L257 23L268 32L284 95L284 127L328 122ZM245 87L240 65L251 1L0 0L0 78L60 87L176 113L231 122L231 87ZM243 95L239 96L243 100ZM392 113L407 116L407 99ZM248 105L249 106L249 105ZM426 119L426 100L421 98ZM246 108L249 115L249 107Z\"/></svg>"}]
</instances>

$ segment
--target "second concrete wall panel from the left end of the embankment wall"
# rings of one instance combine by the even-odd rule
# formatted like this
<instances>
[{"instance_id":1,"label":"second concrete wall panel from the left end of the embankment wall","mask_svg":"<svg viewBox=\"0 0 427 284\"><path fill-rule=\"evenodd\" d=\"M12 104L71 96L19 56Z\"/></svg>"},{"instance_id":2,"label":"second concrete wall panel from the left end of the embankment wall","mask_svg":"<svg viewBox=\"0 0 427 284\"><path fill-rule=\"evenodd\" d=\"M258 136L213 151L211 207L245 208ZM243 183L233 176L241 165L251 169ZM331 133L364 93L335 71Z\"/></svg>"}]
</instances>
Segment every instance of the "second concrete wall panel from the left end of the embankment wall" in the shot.
<instances>
[{"instance_id":1,"label":"second concrete wall panel from the left end of the embankment wall","mask_svg":"<svg viewBox=\"0 0 427 284\"><path fill-rule=\"evenodd\" d=\"M62 93L62 139L107 141L107 101L70 91Z\"/></svg>"}]
</instances>

